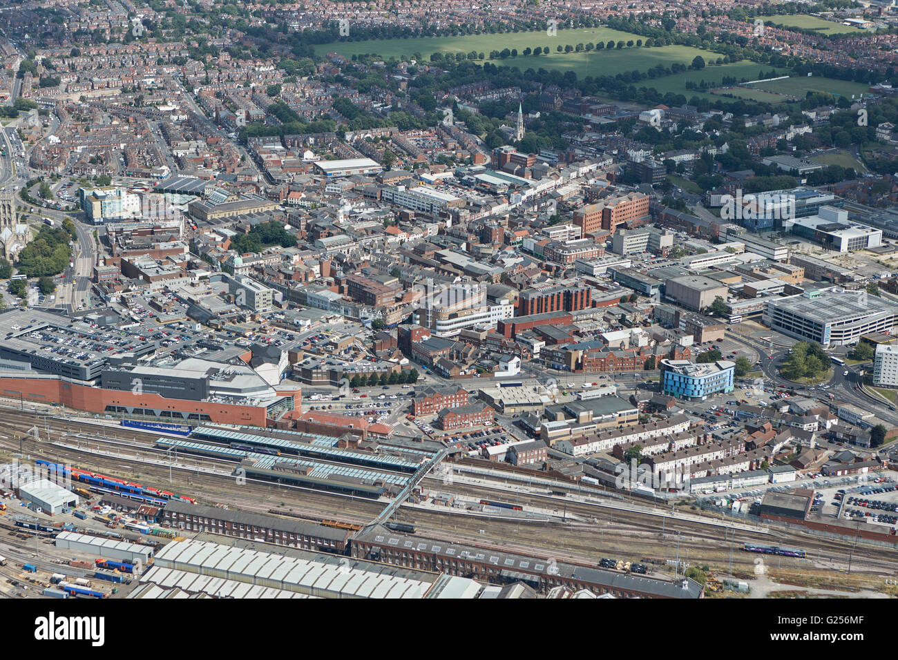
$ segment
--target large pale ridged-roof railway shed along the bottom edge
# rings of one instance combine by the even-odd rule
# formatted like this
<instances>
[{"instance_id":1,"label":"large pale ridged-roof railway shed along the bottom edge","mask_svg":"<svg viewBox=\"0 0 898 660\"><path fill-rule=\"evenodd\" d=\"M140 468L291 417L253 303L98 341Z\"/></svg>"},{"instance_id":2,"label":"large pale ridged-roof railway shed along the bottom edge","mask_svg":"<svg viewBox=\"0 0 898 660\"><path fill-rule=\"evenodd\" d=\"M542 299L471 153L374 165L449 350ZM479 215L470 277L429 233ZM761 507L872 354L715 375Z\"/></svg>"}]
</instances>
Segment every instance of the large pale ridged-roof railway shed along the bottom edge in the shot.
<instances>
[{"instance_id":1,"label":"large pale ridged-roof railway shed along the bottom edge","mask_svg":"<svg viewBox=\"0 0 898 660\"><path fill-rule=\"evenodd\" d=\"M277 555L203 541L174 541L154 566L321 598L476 598L467 577L386 566L373 561L300 552Z\"/></svg>"}]
</instances>

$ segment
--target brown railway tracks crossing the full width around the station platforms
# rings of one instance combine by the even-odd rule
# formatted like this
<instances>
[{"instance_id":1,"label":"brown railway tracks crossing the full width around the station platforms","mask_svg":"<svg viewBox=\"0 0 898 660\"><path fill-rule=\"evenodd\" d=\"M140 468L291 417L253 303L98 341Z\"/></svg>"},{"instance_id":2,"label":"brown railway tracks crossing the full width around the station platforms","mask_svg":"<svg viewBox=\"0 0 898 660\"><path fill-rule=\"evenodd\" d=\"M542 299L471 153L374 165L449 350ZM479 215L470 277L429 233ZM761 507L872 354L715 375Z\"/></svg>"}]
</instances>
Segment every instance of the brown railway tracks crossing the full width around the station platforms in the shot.
<instances>
[{"instance_id":1,"label":"brown railway tracks crossing the full width around the station platforms","mask_svg":"<svg viewBox=\"0 0 898 660\"><path fill-rule=\"evenodd\" d=\"M81 447L47 444L45 441L35 442L33 439L27 439L23 442L23 451L40 453L45 458L52 457L73 466L80 464L95 471L118 473L120 476L143 480L146 485L165 486L168 483L169 465L145 462L151 459L159 460L164 454L163 450L153 446L154 435L134 433L130 429L120 427L98 428L94 424L81 424L75 419L35 415L31 411L4 410L4 418L7 419L4 420L2 428L12 433L6 440L0 438L0 447L5 447L8 451L18 450L18 436L27 433L35 426L39 427L42 436L48 434L51 440L56 441L61 438L66 444L70 444L80 433L83 444L86 443ZM90 433L89 439L85 431ZM98 431L103 436L97 436ZM110 455L110 451L118 450L134 453L134 456ZM187 460L183 456L179 458ZM272 506L277 505L276 500L281 499L283 501L279 508L289 511L286 515L304 515L309 518L317 517L360 525L368 524L383 509L383 502L260 480L246 480L240 488L235 488L233 477L201 471L204 466L207 469L230 471L233 462L192 456L189 460L193 461L192 465L172 465L172 488L175 487L174 479L177 477L177 488L180 488L180 491L207 503L268 514ZM451 488L441 484L438 488L443 491L453 490L459 495L468 497L480 498L490 492L498 494L495 496L496 499L509 497L509 491L506 489L480 484L466 486L456 483ZM581 516L588 522L522 524L490 518L489 524L484 524L482 519L453 515L452 509L443 512L409 509L409 507L401 508L396 519L412 520L418 526L419 532L430 535L438 533L441 538L453 541L474 544L489 542L494 547L516 549L541 556L550 556L562 550L560 554L563 556L593 563L602 553L621 554L627 552L628 547L631 549L629 556L640 554L674 559L671 556L672 547L679 543L682 553L686 557L691 555L693 560L699 557L716 561L726 559L734 566L751 567L755 558L746 557L747 553L741 550L741 544L770 543L769 534L743 530L733 530L732 536L729 530L724 530L725 539L721 540L722 528L719 524L684 521L660 514L575 502L549 495L517 493L515 497L522 505L559 510L566 507L570 514ZM850 541L820 541L809 535L790 531L778 530L777 533L779 536L777 544L803 548L808 551L809 558L814 552L818 559L831 561L847 560L851 555L853 566L894 573L896 565L894 551L858 546L852 553ZM735 550L739 550L738 554Z\"/></svg>"}]
</instances>

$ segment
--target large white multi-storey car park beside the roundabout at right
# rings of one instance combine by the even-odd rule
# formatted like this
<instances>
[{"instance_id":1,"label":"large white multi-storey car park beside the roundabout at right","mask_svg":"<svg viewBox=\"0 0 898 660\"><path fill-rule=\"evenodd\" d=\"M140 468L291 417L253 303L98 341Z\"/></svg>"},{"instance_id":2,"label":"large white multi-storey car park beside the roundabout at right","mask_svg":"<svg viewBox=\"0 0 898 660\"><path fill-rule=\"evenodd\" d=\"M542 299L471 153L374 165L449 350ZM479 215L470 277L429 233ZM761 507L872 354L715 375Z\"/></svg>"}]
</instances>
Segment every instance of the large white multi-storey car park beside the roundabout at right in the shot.
<instances>
[{"instance_id":1,"label":"large white multi-storey car park beside the roundabout at right","mask_svg":"<svg viewBox=\"0 0 898 660\"><path fill-rule=\"evenodd\" d=\"M769 300L763 321L790 337L844 346L868 332L891 334L896 308L866 292L831 289Z\"/></svg>"}]
</instances>

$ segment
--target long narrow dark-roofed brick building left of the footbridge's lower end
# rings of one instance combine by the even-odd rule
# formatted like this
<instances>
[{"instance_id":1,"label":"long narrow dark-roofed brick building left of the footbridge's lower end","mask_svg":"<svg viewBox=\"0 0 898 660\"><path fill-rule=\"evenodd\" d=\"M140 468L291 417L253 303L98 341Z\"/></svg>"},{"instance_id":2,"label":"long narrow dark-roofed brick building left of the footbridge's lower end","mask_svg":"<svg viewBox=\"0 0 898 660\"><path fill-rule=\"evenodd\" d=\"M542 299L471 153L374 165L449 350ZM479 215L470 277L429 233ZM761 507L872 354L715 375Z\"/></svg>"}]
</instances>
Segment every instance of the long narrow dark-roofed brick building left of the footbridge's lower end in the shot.
<instances>
[{"instance_id":1,"label":"long narrow dark-roofed brick building left of the footbridge's lower end","mask_svg":"<svg viewBox=\"0 0 898 660\"><path fill-rule=\"evenodd\" d=\"M172 529L211 532L318 552L342 554L349 541L349 532L336 527L177 500L165 505L162 520Z\"/></svg>"}]
</instances>

